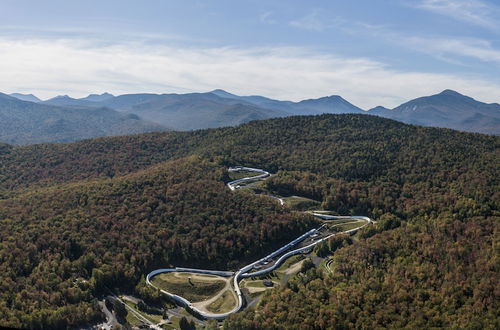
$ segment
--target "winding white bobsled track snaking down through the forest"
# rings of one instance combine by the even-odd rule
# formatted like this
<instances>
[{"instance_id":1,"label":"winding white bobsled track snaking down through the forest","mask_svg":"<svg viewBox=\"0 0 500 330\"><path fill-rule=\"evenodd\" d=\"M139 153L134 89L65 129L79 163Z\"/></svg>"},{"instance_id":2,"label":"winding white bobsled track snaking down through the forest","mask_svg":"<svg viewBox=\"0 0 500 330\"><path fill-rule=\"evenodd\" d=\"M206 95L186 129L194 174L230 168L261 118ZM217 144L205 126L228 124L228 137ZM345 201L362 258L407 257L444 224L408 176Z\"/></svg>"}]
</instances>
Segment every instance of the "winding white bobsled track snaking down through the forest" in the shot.
<instances>
[{"instance_id":1,"label":"winding white bobsled track snaking down through the forest","mask_svg":"<svg viewBox=\"0 0 500 330\"><path fill-rule=\"evenodd\" d=\"M237 180L228 182L227 186L232 191L234 191L236 189L239 189L240 188L239 184L242 183L242 182L247 183L247 182L262 180L262 179L265 179L265 178L267 178L267 177L269 177L271 175L269 172L261 170L261 169L251 168L251 167L243 167L243 166L230 167L228 169L228 171L229 172L248 171L248 172L260 173L259 175L256 175L256 176L245 177L245 178L241 178L241 179L237 179ZM276 200L278 200L281 205L284 205L283 199L281 199L279 197L276 197L276 196L271 196L271 197L274 198L274 199L276 199ZM300 242L304 241L305 239L307 239L311 235L316 234L319 230L321 230L323 228L323 226L325 226L325 224L323 224L319 228L311 229L307 233L305 233L305 234L301 235L300 237L294 239L290 243L288 243L285 246L279 248L278 250L272 252L271 254L267 255L266 257L261 258L261 259L255 261L255 262L253 262L253 263L251 263L249 265L246 265L245 267L243 267L240 270L238 270L236 273L228 272L228 271L216 271L216 270L193 269L193 268L165 268L165 269L157 269L157 270L154 270L151 273L149 273L146 276L146 283L148 285L150 285L150 286L152 286L152 287L160 290L163 294L165 294L165 295L169 296L170 298L172 298L179 305L190 309L191 311L193 311L194 313L200 315L203 318L206 318L206 319L217 319L217 320L225 319L229 315L238 312L243 307L243 295L241 293L240 286L239 286L239 281L242 278L247 278L247 277L252 277L252 276L260 276L260 275L264 275L264 274L270 273L274 269L276 269L277 267L279 267L283 263L283 261L285 261L286 259L288 259L289 257L291 257L293 255L302 253L304 251L308 251L308 250L312 249L312 247L314 247L315 245L317 245L317 244L319 244L319 243L321 243L323 241L326 241L327 239L329 239L329 238L331 238L331 237L333 237L335 235L355 233L359 229L361 229L364 226L366 226L366 225L368 225L368 224L370 224L370 223L373 222L370 218L364 217L364 216L333 216L333 215L327 215L327 214L318 213L318 212L313 212L312 215L315 216L315 217L318 217L320 219L323 219L323 220L347 220L347 219L349 219L349 220L360 220L360 221L363 220L365 223L363 225L357 227L357 228L346 230L346 231L341 232L341 233L334 233L334 234L328 235L328 236L326 236L324 238L318 239L318 240L312 242L311 244L308 244L308 245L303 246L301 248L288 251L288 252L284 253L281 257L279 257L276 260L276 262L271 267L262 269L260 271L249 273L249 271L251 271L252 269L254 269L255 266L257 266L257 265L259 265L261 263L264 263L264 262L266 262L266 261L268 261L268 260L270 260L270 259L272 259L272 258L274 258L274 257L276 257L276 256L278 256L280 254L282 254L283 252L285 252L287 250L290 250L292 247L294 247L295 245L297 245ZM185 298L183 298L181 296L172 294L170 292L167 292L165 290L162 290L162 289L156 287L153 283L151 283L151 279L153 277L155 277L156 275L161 274L161 273L168 273L168 272L200 273L200 274L218 275L218 276L222 276L222 277L234 276L233 277L233 287L234 287L234 291L236 293L236 296L238 297L238 304L237 304L237 306L235 308L233 308L233 310L231 310L229 312L226 312L226 313L218 313L218 314L216 314L216 313L207 313L207 312L201 311L201 310L197 309L196 307L194 307L193 304L190 301L188 301L187 299L185 299Z\"/></svg>"}]
</instances>

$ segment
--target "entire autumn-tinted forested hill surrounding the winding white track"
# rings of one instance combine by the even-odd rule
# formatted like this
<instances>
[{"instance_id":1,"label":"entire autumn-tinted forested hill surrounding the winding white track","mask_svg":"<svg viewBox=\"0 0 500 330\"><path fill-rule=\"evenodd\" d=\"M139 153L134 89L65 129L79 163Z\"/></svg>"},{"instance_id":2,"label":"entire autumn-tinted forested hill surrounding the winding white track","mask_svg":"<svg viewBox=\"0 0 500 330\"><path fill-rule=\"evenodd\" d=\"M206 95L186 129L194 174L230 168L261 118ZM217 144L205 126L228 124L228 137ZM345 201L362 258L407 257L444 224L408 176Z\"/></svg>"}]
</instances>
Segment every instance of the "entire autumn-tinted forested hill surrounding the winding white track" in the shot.
<instances>
[{"instance_id":1,"label":"entire autumn-tinted forested hill surrounding the winding white track","mask_svg":"<svg viewBox=\"0 0 500 330\"><path fill-rule=\"evenodd\" d=\"M499 146L367 115L0 145L0 320L88 324L105 286L151 296L140 279L154 267L234 268L314 225L229 192L225 169L242 164L277 172L279 194L378 223L335 251L333 274L309 270L228 328L491 327Z\"/></svg>"}]
</instances>

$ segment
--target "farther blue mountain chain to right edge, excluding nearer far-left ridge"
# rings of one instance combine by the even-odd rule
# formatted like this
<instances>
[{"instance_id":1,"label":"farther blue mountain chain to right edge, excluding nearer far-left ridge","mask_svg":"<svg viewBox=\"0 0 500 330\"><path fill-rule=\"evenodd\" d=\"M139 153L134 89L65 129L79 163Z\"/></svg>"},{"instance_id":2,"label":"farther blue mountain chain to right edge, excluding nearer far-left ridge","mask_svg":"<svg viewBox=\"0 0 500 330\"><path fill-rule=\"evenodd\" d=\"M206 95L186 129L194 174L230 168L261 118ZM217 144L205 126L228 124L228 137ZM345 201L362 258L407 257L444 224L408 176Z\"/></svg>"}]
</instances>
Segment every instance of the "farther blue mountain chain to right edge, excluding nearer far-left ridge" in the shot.
<instances>
[{"instance_id":1,"label":"farther blue mountain chain to right edge, excluding nearer far-left ridge","mask_svg":"<svg viewBox=\"0 0 500 330\"><path fill-rule=\"evenodd\" d=\"M114 109L121 113L136 114L142 119L174 130L235 126L251 120L294 115L350 113L371 114L416 125L500 134L499 104L482 103L451 90L417 98L394 109L379 106L368 111L338 95L292 102L258 95L239 96L222 89L188 94L141 93L113 96L103 93L79 99L63 95L47 101L36 100L41 104L59 107Z\"/></svg>"}]
</instances>

